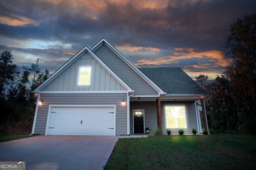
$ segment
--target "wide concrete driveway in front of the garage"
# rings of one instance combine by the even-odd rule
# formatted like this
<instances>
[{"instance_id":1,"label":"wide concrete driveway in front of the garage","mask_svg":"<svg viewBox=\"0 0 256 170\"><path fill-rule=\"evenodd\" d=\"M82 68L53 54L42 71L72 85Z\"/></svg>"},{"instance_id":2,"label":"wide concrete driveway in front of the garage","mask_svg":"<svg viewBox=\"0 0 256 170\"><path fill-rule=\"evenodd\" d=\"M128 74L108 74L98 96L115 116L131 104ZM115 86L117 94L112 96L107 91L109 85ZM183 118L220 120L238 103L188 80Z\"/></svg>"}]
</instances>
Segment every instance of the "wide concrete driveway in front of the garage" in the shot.
<instances>
[{"instance_id":1,"label":"wide concrete driveway in front of the garage","mask_svg":"<svg viewBox=\"0 0 256 170\"><path fill-rule=\"evenodd\" d=\"M26 169L103 169L118 137L36 136L0 143L0 161Z\"/></svg>"}]
</instances>

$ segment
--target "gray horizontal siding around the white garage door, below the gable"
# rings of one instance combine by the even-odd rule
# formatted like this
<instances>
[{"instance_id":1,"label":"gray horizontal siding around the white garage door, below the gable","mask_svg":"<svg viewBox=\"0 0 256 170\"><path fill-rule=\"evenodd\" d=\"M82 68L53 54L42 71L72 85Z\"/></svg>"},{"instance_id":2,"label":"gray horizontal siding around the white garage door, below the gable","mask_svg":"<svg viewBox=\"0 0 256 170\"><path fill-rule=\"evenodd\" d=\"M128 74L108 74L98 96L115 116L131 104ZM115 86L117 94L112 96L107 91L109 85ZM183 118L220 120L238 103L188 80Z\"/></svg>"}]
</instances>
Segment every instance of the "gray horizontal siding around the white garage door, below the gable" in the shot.
<instances>
[{"instance_id":1,"label":"gray horizontal siding around the white garage door, below the gable","mask_svg":"<svg viewBox=\"0 0 256 170\"><path fill-rule=\"evenodd\" d=\"M116 105L116 135L127 135L127 106L121 106L127 93L43 93L40 98L43 106L38 107L34 133L45 135L49 105Z\"/></svg>"}]
</instances>

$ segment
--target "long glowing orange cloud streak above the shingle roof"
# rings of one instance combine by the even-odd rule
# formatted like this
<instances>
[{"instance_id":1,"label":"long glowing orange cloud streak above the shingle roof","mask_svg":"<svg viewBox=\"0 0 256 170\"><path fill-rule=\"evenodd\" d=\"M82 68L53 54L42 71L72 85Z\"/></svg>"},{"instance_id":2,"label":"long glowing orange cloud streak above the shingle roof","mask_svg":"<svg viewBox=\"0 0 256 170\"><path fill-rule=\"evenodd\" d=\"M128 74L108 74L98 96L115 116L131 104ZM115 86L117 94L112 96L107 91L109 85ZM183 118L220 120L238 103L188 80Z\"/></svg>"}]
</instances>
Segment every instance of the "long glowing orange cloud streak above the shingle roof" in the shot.
<instances>
[{"instance_id":1,"label":"long glowing orange cloud streak above the shingle roof","mask_svg":"<svg viewBox=\"0 0 256 170\"><path fill-rule=\"evenodd\" d=\"M215 67L226 67L230 61L224 58L221 51L209 50L203 52L195 52L193 48L187 48L186 52L181 52L183 48L175 48L175 52L172 56L162 56L160 58L154 59L139 59L136 65L162 65L179 63L179 59L190 59L190 58L211 58L211 61L215 63ZM194 67L204 67L207 68L206 64L194 65Z\"/></svg>"}]
</instances>

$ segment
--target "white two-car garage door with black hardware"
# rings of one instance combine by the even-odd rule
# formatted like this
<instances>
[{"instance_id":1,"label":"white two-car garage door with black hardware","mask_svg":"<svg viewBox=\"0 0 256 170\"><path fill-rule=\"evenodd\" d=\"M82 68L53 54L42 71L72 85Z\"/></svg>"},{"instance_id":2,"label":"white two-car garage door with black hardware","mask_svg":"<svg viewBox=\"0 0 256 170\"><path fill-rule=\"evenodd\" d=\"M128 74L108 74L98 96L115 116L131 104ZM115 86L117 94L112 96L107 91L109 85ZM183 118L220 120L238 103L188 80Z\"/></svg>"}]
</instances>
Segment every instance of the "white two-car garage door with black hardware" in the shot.
<instances>
[{"instance_id":1,"label":"white two-car garage door with black hardware","mask_svg":"<svg viewBox=\"0 0 256 170\"><path fill-rule=\"evenodd\" d=\"M114 107L51 107L46 135L115 135Z\"/></svg>"}]
</instances>

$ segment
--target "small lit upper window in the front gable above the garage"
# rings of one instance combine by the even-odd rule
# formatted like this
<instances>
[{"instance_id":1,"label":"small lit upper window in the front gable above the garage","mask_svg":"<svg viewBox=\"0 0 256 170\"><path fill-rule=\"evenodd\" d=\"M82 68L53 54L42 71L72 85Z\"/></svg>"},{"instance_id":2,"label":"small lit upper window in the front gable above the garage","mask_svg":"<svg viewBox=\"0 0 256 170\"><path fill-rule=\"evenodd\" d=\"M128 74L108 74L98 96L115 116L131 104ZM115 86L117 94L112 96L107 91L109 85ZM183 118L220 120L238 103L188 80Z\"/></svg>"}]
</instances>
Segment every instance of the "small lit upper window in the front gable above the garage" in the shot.
<instances>
[{"instance_id":1,"label":"small lit upper window in the front gable above the garage","mask_svg":"<svg viewBox=\"0 0 256 170\"><path fill-rule=\"evenodd\" d=\"M78 86L91 85L91 67L79 67Z\"/></svg>"}]
</instances>

